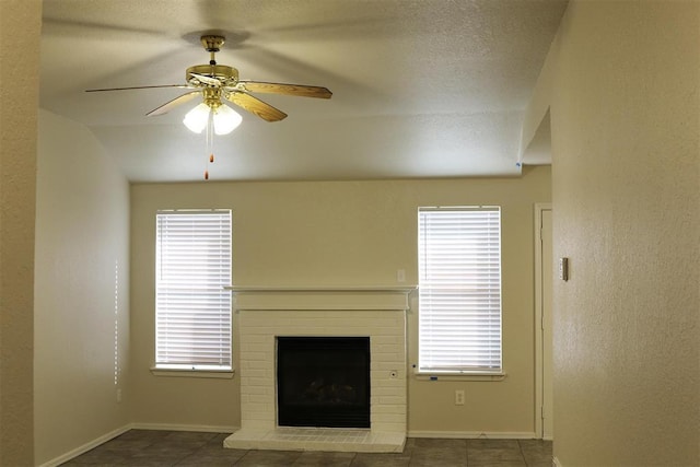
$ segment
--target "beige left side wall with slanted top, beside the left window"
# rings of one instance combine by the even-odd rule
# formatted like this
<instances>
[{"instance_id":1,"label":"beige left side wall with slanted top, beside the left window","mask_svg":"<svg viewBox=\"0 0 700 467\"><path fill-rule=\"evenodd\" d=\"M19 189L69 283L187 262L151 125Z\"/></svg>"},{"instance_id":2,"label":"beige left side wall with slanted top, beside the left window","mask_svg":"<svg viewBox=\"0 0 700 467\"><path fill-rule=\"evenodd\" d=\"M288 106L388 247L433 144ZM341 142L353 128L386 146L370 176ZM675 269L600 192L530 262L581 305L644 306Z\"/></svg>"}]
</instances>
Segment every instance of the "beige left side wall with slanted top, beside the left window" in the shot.
<instances>
[{"instance_id":1,"label":"beige left side wall with slanted top, beside the left window","mask_svg":"<svg viewBox=\"0 0 700 467\"><path fill-rule=\"evenodd\" d=\"M38 136L34 410L43 464L130 421L129 186L85 127L42 110Z\"/></svg>"}]
</instances>

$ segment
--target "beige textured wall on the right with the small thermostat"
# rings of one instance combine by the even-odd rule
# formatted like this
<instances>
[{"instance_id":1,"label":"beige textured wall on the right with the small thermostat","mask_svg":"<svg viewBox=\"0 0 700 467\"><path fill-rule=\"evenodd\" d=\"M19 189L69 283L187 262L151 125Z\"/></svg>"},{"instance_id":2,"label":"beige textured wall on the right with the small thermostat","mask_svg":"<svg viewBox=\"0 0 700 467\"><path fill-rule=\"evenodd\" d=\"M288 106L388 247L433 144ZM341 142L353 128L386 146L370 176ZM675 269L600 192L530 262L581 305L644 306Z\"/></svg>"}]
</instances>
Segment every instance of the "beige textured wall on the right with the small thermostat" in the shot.
<instances>
[{"instance_id":1,"label":"beige textured wall on the right with the small thermostat","mask_svg":"<svg viewBox=\"0 0 700 467\"><path fill-rule=\"evenodd\" d=\"M555 455L700 465L700 3L572 1L550 58Z\"/></svg>"}]
</instances>

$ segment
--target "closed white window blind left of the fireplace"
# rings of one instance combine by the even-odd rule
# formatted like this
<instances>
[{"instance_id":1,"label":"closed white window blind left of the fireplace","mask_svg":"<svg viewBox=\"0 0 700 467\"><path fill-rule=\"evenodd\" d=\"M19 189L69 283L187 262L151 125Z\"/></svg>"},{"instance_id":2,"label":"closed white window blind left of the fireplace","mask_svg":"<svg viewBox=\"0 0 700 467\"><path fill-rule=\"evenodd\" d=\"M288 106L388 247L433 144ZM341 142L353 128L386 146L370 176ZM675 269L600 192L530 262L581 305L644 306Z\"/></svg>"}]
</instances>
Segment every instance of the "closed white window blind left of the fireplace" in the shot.
<instances>
[{"instance_id":1,"label":"closed white window blind left of the fireplace","mask_svg":"<svg viewBox=\"0 0 700 467\"><path fill-rule=\"evenodd\" d=\"M159 211L155 367L231 369L231 211Z\"/></svg>"}]
</instances>

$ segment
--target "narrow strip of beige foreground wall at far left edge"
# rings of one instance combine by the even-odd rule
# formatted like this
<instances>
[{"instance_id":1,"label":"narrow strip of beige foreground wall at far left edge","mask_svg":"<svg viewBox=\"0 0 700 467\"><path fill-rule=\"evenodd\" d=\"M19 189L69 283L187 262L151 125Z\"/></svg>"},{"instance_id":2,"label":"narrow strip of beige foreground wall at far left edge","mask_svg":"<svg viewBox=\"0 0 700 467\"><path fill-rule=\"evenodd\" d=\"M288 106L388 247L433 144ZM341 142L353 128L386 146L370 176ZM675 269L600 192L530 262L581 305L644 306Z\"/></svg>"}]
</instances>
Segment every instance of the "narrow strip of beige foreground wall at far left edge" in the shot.
<instances>
[{"instance_id":1,"label":"narrow strip of beige foreground wall at far left edge","mask_svg":"<svg viewBox=\"0 0 700 467\"><path fill-rule=\"evenodd\" d=\"M32 465L36 113L42 2L0 1L0 465Z\"/></svg>"}]
</instances>

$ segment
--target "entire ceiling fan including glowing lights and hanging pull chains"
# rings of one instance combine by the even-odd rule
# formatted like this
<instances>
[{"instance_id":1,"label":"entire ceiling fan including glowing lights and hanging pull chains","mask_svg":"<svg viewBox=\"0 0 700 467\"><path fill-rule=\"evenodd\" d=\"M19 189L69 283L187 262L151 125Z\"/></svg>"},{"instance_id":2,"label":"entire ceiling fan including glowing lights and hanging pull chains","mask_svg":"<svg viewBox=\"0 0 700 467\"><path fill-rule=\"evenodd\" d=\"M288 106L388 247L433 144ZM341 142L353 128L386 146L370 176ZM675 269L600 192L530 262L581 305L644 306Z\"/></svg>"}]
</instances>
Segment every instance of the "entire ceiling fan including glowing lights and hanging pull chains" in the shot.
<instances>
[{"instance_id":1,"label":"entire ceiling fan including glowing lights and hanging pull chains","mask_svg":"<svg viewBox=\"0 0 700 467\"><path fill-rule=\"evenodd\" d=\"M243 117L232 109L225 102L237 105L250 112L266 121L279 121L287 117L282 110L267 104L253 96L250 93L269 93L291 96L330 98L332 93L322 86L310 86L301 84L268 83L261 81L241 81L238 70L225 65L219 65L215 60L215 52L225 42L221 35L202 35L200 42L205 49L210 52L209 65L196 65L187 68L185 72L186 84L167 84L156 86L137 87L114 87L101 90L88 90L88 92L98 91L122 91L152 87L185 87L194 89L174 100L149 112L148 116L163 115L174 107L191 101L201 95L202 102L195 106L185 115L183 124L196 133L206 131L208 163L212 163L213 157L213 135L229 135L241 125ZM209 171L205 170L205 179L209 178Z\"/></svg>"}]
</instances>

